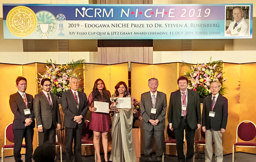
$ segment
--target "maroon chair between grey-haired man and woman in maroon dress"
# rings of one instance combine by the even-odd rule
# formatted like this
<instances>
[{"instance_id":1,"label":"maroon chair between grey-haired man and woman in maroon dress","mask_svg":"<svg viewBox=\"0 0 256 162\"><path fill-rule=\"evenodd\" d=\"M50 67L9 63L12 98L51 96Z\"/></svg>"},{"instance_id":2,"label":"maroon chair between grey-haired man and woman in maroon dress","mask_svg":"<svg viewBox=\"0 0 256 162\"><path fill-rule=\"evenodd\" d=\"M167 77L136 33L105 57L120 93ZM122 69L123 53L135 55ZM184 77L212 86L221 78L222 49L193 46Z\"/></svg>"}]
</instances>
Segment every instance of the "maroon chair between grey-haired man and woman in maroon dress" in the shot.
<instances>
[{"instance_id":1,"label":"maroon chair between grey-haired man and woman in maroon dress","mask_svg":"<svg viewBox=\"0 0 256 162\"><path fill-rule=\"evenodd\" d=\"M88 140L92 137L93 131L89 129L90 121L85 120L84 129L82 130L82 146L93 146L93 140ZM94 158L97 162L97 154L94 149Z\"/></svg>"}]
</instances>

